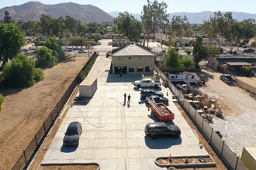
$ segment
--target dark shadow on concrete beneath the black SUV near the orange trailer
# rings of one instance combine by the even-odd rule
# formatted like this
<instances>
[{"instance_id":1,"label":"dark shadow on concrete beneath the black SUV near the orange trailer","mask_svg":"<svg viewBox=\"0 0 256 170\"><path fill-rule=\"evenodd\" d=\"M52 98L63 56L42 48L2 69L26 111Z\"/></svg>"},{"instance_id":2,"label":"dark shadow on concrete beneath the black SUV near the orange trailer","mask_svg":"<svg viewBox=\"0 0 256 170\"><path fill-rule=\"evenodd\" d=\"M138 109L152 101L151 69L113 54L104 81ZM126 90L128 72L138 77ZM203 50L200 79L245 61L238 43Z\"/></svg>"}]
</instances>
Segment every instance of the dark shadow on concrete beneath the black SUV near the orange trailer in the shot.
<instances>
[{"instance_id":1,"label":"dark shadow on concrete beneath the black SUV near the orange trailer","mask_svg":"<svg viewBox=\"0 0 256 170\"><path fill-rule=\"evenodd\" d=\"M145 136L145 144L151 149L171 148L174 145L182 144L182 138L158 137L156 139Z\"/></svg>"}]
</instances>

